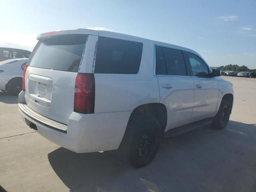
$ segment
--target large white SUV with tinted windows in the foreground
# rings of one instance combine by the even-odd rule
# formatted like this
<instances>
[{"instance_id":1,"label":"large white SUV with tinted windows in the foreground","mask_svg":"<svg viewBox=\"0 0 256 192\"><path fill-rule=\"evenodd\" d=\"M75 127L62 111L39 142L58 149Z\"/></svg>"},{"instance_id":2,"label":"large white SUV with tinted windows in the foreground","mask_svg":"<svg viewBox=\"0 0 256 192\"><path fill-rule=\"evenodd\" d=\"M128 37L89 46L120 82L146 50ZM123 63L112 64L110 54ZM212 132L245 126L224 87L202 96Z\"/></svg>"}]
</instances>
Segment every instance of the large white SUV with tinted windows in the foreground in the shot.
<instances>
[{"instance_id":1,"label":"large white SUV with tinted windows in the foreground","mask_svg":"<svg viewBox=\"0 0 256 192\"><path fill-rule=\"evenodd\" d=\"M232 84L193 50L87 29L37 39L24 68L19 112L64 148L117 149L123 162L142 167L164 132L228 123Z\"/></svg>"}]
</instances>

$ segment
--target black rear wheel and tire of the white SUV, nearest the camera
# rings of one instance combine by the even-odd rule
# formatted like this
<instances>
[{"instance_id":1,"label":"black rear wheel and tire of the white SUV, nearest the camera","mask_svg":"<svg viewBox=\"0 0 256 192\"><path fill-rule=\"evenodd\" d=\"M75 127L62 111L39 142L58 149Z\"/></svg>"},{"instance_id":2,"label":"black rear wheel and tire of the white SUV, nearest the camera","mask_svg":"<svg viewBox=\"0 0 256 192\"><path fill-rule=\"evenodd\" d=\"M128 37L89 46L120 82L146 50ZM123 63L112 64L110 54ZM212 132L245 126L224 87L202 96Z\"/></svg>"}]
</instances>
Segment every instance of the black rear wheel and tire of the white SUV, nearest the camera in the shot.
<instances>
[{"instance_id":1,"label":"black rear wheel and tire of the white SUV, nearest the camera","mask_svg":"<svg viewBox=\"0 0 256 192\"><path fill-rule=\"evenodd\" d=\"M117 150L118 158L135 168L149 164L158 152L161 126L154 116L143 116L128 124Z\"/></svg>"}]
</instances>

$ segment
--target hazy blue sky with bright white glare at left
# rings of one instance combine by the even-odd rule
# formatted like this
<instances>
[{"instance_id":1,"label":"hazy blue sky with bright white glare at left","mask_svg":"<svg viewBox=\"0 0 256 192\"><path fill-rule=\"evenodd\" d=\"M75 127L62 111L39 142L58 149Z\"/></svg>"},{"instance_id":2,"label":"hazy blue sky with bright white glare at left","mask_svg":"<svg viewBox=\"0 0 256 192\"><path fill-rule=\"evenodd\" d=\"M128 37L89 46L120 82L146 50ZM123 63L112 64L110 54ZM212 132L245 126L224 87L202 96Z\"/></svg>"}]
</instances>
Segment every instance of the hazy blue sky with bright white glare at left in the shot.
<instances>
[{"instance_id":1,"label":"hazy blue sky with bright white glare at left","mask_svg":"<svg viewBox=\"0 0 256 192\"><path fill-rule=\"evenodd\" d=\"M184 46L210 66L256 68L256 0L6 0L0 46L32 50L54 30L109 30Z\"/></svg>"}]
</instances>

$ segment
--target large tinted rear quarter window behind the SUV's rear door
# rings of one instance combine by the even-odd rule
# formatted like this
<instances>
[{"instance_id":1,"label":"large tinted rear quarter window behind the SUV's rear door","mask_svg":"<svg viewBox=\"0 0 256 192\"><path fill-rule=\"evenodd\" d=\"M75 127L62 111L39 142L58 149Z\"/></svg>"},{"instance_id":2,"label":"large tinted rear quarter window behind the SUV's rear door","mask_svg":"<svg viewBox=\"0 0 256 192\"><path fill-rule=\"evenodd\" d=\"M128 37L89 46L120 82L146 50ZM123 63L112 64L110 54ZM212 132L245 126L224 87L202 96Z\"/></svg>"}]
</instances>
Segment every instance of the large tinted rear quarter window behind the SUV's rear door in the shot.
<instances>
[{"instance_id":1,"label":"large tinted rear quarter window behind the SUV's rear door","mask_svg":"<svg viewBox=\"0 0 256 192\"><path fill-rule=\"evenodd\" d=\"M99 37L95 73L137 74L143 44L127 40Z\"/></svg>"}]
</instances>

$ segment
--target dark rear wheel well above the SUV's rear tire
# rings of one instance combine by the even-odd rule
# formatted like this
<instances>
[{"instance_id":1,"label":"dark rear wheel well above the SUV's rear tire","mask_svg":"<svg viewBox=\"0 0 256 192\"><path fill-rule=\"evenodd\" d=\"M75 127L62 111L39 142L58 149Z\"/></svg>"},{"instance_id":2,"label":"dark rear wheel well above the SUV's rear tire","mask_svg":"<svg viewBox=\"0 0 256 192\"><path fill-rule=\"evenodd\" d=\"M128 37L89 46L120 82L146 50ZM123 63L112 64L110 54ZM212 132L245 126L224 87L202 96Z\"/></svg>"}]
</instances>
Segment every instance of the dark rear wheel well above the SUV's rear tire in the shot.
<instances>
[{"instance_id":1,"label":"dark rear wheel well above the SUV's rear tire","mask_svg":"<svg viewBox=\"0 0 256 192\"><path fill-rule=\"evenodd\" d=\"M162 133L164 133L167 124L167 110L164 104L149 103L136 107L130 115L128 125L143 115L154 116L161 126Z\"/></svg>"}]
</instances>

